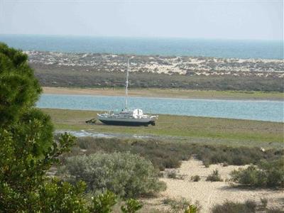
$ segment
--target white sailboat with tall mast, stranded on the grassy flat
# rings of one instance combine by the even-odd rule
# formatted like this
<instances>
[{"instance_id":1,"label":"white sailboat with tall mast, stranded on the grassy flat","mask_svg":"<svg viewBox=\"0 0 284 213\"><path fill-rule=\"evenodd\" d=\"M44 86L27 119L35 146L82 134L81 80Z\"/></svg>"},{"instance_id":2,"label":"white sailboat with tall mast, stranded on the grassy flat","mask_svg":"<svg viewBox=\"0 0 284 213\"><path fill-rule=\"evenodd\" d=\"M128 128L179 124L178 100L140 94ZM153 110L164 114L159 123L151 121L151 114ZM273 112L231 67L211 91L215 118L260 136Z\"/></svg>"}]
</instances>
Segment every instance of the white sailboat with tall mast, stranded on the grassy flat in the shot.
<instances>
[{"instance_id":1,"label":"white sailboat with tall mast, stranded on the grassy flat","mask_svg":"<svg viewBox=\"0 0 284 213\"><path fill-rule=\"evenodd\" d=\"M127 61L126 82L125 82L125 106L121 111L108 111L97 114L97 119L108 125L121 126L155 126L158 115L143 114L142 109L132 109L127 106L129 87L129 58Z\"/></svg>"}]
</instances>

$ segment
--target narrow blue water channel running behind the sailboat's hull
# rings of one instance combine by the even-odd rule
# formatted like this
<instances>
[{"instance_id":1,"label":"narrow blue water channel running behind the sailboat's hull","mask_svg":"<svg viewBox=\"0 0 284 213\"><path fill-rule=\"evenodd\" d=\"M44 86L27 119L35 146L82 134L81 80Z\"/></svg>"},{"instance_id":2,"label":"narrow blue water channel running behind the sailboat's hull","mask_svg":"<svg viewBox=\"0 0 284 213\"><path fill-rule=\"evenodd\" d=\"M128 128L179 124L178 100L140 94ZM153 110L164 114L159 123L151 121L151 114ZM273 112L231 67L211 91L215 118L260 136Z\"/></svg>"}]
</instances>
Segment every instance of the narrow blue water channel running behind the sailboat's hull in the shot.
<instances>
[{"instance_id":1,"label":"narrow blue water channel running behind the sailboat's hull","mask_svg":"<svg viewBox=\"0 0 284 213\"><path fill-rule=\"evenodd\" d=\"M37 103L54 109L120 110L123 106L124 97L63 94L42 94ZM145 113L283 122L284 102L129 97L129 106Z\"/></svg>"}]
</instances>

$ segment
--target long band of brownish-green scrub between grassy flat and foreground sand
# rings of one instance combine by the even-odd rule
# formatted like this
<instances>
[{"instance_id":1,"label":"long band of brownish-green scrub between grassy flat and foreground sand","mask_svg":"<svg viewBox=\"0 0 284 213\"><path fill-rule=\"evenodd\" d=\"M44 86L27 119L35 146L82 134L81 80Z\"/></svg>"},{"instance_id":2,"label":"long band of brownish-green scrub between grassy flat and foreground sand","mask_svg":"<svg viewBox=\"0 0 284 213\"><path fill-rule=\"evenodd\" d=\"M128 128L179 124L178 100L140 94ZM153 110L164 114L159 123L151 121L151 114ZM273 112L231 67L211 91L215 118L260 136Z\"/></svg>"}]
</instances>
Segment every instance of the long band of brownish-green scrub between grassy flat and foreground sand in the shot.
<instances>
[{"instance_id":1,"label":"long band of brownish-green scrub between grassy flat and foreground sand","mask_svg":"<svg viewBox=\"0 0 284 213\"><path fill-rule=\"evenodd\" d=\"M179 168L181 160L188 160L192 155L204 163L226 162L229 165L246 165L257 163L262 159L278 159L284 155L283 150L275 148L263 152L260 148L249 147L234 148L186 142L91 137L78 138L70 155L89 155L99 151L106 153L129 151L151 160L153 166L159 170Z\"/></svg>"}]
</instances>

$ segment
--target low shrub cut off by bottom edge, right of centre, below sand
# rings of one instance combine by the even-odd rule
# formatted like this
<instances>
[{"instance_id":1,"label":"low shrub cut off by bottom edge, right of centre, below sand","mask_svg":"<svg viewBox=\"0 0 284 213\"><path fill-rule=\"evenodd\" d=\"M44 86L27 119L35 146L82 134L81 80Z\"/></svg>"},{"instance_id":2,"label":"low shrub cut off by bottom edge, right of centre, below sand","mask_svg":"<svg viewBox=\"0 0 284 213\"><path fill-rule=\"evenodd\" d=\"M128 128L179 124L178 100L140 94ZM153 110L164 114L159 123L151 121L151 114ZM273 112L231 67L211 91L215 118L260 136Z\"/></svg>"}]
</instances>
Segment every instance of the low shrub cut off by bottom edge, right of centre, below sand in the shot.
<instances>
[{"instance_id":1,"label":"low shrub cut off by bottom edge, right of centre, below sand","mask_svg":"<svg viewBox=\"0 0 284 213\"><path fill-rule=\"evenodd\" d=\"M256 212L256 203L246 201L245 203L226 201L224 204L217 204L213 207L212 213L252 213Z\"/></svg>"}]
</instances>

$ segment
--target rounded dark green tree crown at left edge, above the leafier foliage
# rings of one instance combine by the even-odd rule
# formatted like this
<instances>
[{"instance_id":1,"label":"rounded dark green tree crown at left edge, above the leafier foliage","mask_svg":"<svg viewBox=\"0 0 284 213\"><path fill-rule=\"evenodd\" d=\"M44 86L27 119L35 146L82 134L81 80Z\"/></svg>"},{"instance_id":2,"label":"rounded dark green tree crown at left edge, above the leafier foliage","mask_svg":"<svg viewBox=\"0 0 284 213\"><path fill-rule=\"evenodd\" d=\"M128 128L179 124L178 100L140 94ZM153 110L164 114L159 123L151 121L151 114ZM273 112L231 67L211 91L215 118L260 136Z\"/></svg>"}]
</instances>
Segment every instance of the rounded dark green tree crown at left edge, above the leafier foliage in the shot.
<instances>
[{"instance_id":1,"label":"rounded dark green tree crown at left edge, above the leafier foliage","mask_svg":"<svg viewBox=\"0 0 284 213\"><path fill-rule=\"evenodd\" d=\"M0 126L10 126L41 92L29 67L28 55L0 43Z\"/></svg>"}]
</instances>

